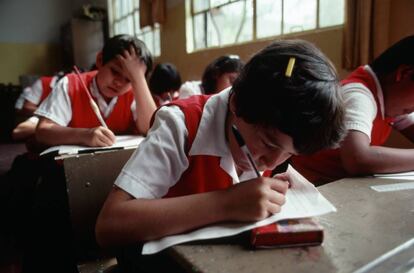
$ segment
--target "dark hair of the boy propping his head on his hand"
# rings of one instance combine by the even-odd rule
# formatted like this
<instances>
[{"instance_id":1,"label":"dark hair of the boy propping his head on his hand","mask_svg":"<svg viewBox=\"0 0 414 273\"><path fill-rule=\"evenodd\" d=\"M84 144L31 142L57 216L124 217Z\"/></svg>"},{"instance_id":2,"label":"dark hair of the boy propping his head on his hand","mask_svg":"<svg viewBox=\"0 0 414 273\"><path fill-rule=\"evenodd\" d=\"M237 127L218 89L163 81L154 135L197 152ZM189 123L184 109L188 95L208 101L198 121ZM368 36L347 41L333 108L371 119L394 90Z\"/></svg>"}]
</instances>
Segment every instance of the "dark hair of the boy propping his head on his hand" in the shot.
<instances>
[{"instance_id":1,"label":"dark hair of the boy propping his head on his hand","mask_svg":"<svg viewBox=\"0 0 414 273\"><path fill-rule=\"evenodd\" d=\"M122 54L124 50L128 50L130 46L133 46L137 55L144 61L147 66L145 76L152 70L152 55L143 41L138 38L132 37L126 34L116 35L105 42L102 49L102 61L103 64L111 61L118 54Z\"/></svg>"}]
</instances>

